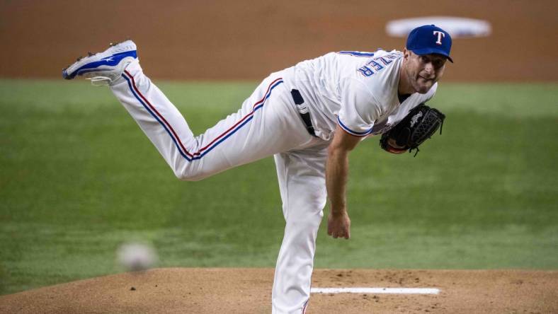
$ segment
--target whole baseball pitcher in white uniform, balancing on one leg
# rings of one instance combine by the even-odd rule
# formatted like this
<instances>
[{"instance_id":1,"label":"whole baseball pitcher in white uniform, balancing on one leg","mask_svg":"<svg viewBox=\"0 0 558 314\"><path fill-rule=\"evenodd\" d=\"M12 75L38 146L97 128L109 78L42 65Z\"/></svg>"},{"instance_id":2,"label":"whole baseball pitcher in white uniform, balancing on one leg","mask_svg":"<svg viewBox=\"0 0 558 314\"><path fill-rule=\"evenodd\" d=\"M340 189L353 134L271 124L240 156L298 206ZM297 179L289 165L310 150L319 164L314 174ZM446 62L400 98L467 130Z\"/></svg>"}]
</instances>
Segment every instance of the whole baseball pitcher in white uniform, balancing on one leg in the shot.
<instances>
[{"instance_id":1,"label":"whole baseball pitcher in white uniform, balancing on one leg","mask_svg":"<svg viewBox=\"0 0 558 314\"><path fill-rule=\"evenodd\" d=\"M328 199L329 236L351 237L349 153L377 134L386 151L418 151L444 120L424 103L435 94L445 62L452 62L451 45L445 30L423 25L411 31L402 52L341 51L300 62L263 79L237 112L198 136L144 74L131 40L78 59L62 76L108 85L180 180L273 156L286 221L273 313L304 313Z\"/></svg>"}]
</instances>

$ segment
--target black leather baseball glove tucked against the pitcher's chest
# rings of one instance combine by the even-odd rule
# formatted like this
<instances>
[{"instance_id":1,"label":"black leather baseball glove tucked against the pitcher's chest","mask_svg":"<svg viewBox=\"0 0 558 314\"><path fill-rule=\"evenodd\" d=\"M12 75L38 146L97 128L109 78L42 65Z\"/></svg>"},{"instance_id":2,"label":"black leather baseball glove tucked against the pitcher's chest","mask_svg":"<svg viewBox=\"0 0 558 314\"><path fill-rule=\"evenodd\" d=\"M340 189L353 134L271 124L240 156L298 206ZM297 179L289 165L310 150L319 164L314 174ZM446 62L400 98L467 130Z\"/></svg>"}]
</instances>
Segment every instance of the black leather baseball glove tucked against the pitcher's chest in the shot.
<instances>
[{"instance_id":1,"label":"black leather baseball glove tucked against the pitcher's chest","mask_svg":"<svg viewBox=\"0 0 558 314\"><path fill-rule=\"evenodd\" d=\"M404 153L407 150L410 153L415 150L416 156L418 146L430 139L438 127L442 134L444 119L442 112L421 103L395 127L382 134L380 147L389 153Z\"/></svg>"}]
</instances>

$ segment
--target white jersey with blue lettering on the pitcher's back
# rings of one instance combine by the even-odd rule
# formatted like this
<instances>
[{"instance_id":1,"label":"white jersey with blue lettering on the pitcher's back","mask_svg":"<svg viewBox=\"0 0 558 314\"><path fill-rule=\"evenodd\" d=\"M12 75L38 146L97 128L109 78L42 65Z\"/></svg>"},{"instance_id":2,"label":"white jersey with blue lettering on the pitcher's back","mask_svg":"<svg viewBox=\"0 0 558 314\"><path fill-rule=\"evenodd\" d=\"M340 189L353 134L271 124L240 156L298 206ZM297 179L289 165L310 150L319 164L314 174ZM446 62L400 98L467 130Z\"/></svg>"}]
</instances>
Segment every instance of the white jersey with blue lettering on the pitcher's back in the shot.
<instances>
[{"instance_id":1,"label":"white jersey with blue lettering on the pitcher's back","mask_svg":"<svg viewBox=\"0 0 558 314\"><path fill-rule=\"evenodd\" d=\"M284 79L302 94L322 139L331 139L336 125L355 136L380 134L430 100L438 87L435 83L427 93L399 103L402 57L396 50L330 52L285 69Z\"/></svg>"}]
</instances>

